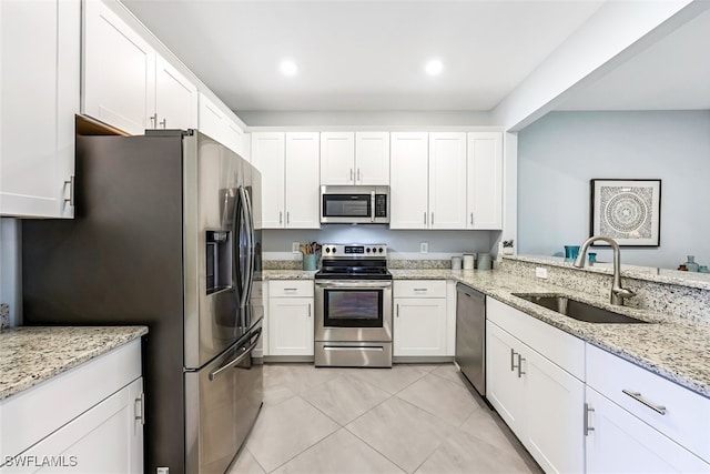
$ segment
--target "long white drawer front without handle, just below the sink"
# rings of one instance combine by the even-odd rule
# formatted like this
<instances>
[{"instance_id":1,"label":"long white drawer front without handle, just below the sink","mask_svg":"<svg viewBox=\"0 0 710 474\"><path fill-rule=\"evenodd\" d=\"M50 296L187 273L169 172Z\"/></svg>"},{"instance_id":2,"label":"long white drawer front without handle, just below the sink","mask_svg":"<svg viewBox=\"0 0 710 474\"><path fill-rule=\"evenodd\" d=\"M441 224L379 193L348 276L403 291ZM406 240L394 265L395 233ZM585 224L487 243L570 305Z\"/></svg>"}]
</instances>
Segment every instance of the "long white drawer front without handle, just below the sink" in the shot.
<instances>
[{"instance_id":1,"label":"long white drawer front without handle, just below the sink","mask_svg":"<svg viewBox=\"0 0 710 474\"><path fill-rule=\"evenodd\" d=\"M585 342L513 306L486 297L486 319L579 379L585 380Z\"/></svg>"}]
</instances>

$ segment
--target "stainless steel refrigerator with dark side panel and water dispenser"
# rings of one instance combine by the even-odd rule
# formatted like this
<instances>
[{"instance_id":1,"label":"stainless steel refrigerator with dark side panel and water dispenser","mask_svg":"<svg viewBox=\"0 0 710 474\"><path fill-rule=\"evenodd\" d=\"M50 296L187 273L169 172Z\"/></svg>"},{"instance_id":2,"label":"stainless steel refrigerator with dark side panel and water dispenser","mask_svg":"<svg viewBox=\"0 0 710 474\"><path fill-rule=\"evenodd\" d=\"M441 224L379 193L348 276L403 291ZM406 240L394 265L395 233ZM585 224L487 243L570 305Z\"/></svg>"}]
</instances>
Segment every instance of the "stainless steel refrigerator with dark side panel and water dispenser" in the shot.
<instances>
[{"instance_id":1,"label":"stainless steel refrigerator with dark side panel and water dispenser","mask_svg":"<svg viewBox=\"0 0 710 474\"><path fill-rule=\"evenodd\" d=\"M261 174L196 131L77 137L75 219L22 225L23 324L145 324L145 472L224 473L263 399Z\"/></svg>"}]
</instances>

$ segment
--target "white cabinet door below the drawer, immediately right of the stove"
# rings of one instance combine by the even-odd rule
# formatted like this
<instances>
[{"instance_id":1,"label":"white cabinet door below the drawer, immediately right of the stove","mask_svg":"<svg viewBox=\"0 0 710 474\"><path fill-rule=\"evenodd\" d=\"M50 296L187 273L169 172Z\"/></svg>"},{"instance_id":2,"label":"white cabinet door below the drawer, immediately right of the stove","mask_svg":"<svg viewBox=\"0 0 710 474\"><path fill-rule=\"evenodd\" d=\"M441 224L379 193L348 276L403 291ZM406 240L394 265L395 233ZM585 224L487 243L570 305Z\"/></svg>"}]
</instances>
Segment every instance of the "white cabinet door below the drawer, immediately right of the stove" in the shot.
<instances>
[{"instance_id":1,"label":"white cabinet door below the drawer, immediately right of the stove","mask_svg":"<svg viewBox=\"0 0 710 474\"><path fill-rule=\"evenodd\" d=\"M393 355L446 355L446 299L395 299Z\"/></svg>"}]
</instances>

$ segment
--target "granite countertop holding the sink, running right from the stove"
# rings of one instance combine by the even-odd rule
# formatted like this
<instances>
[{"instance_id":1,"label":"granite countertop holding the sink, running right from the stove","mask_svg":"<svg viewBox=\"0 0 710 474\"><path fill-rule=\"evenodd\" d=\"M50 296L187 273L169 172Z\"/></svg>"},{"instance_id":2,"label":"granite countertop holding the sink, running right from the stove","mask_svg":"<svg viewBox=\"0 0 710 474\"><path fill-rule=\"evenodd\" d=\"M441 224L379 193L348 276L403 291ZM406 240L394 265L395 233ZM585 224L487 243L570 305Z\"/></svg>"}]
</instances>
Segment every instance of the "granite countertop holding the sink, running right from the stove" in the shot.
<instances>
[{"instance_id":1,"label":"granite countertop holding the sink, running right from the stove","mask_svg":"<svg viewBox=\"0 0 710 474\"><path fill-rule=\"evenodd\" d=\"M390 270L395 280L454 280L605 349L701 395L710 397L710 325L681 322L668 314L612 306L549 283L499 271ZM600 324L577 321L514 296L513 293L565 294L651 324Z\"/></svg>"}]
</instances>

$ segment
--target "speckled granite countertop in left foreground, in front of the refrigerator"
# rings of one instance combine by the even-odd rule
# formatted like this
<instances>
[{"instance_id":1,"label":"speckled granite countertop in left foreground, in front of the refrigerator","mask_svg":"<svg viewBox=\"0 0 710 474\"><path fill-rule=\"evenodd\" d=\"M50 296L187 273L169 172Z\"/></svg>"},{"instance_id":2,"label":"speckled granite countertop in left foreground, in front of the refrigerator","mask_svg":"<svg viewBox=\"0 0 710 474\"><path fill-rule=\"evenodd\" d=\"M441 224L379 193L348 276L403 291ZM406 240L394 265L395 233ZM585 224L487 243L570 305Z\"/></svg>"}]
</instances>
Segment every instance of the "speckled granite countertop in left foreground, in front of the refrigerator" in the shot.
<instances>
[{"instance_id":1,"label":"speckled granite countertop in left foreground, in front of the refrigerator","mask_svg":"<svg viewBox=\"0 0 710 474\"><path fill-rule=\"evenodd\" d=\"M21 326L0 332L0 401L148 333L148 326Z\"/></svg>"}]
</instances>

